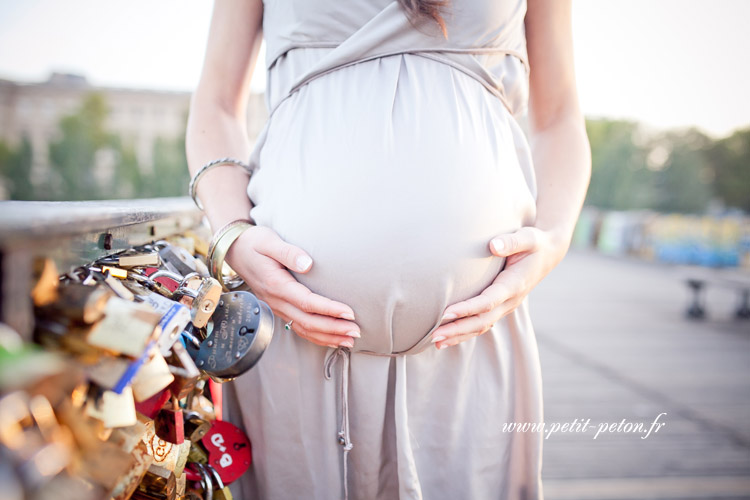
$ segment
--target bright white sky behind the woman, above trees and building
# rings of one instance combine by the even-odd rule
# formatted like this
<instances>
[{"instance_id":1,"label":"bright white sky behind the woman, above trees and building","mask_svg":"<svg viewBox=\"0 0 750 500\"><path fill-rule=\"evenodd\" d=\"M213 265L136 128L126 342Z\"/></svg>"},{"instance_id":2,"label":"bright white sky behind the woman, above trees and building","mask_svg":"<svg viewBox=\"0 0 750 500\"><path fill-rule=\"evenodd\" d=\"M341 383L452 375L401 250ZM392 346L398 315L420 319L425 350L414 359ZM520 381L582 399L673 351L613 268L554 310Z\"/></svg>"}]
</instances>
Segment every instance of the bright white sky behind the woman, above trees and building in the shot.
<instances>
[{"instance_id":1,"label":"bright white sky behind the woman, above trees and building","mask_svg":"<svg viewBox=\"0 0 750 500\"><path fill-rule=\"evenodd\" d=\"M0 0L0 78L43 81L62 71L102 86L192 91L212 5ZM584 113L717 137L750 125L748 19L748 0L574 0ZM261 59L254 91L264 88L263 68Z\"/></svg>"}]
</instances>

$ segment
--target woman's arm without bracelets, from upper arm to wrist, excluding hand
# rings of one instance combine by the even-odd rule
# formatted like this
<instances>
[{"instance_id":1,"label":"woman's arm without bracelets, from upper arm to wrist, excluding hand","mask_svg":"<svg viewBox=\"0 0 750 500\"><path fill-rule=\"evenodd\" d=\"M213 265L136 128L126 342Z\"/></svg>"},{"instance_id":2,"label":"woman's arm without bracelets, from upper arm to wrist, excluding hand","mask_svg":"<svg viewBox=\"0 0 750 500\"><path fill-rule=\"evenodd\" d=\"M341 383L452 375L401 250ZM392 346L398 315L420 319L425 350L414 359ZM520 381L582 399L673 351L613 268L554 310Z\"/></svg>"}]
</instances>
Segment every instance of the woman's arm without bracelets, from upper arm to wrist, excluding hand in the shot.
<instances>
[{"instance_id":1,"label":"woman's arm without bracelets, from upper arm to wrist, excluding hand","mask_svg":"<svg viewBox=\"0 0 750 500\"><path fill-rule=\"evenodd\" d=\"M529 124L538 182L535 227L566 250L591 178L591 150L578 104L570 0L528 0ZM562 256L560 256L562 258Z\"/></svg>"}]
</instances>

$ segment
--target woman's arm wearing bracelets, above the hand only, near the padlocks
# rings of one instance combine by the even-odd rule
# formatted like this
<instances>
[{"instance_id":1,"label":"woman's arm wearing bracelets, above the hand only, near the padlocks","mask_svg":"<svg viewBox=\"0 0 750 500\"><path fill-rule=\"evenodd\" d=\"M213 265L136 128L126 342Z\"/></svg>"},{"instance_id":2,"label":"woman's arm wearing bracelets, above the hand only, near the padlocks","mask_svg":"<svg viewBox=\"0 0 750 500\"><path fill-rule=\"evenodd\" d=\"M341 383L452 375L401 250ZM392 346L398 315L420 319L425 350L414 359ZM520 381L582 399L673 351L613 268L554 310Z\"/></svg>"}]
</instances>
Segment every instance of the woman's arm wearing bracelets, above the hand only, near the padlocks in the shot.
<instances>
[{"instance_id":1,"label":"woman's arm wearing bracelets, above the hand only, near the padlocks","mask_svg":"<svg viewBox=\"0 0 750 500\"><path fill-rule=\"evenodd\" d=\"M185 146L191 175L211 160L250 156L248 89L262 41L262 0L214 2L206 54L190 103ZM247 218L247 174L215 168L198 183L198 197L211 227Z\"/></svg>"}]
</instances>

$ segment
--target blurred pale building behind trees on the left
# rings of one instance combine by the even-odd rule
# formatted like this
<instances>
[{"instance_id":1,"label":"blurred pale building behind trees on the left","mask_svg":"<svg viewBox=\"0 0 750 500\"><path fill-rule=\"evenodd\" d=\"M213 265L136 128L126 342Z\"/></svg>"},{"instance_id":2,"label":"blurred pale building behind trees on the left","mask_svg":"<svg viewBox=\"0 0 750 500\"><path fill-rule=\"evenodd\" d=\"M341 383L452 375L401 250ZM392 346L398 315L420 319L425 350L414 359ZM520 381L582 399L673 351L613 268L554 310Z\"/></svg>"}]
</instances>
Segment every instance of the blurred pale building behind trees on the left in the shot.
<instances>
[{"instance_id":1,"label":"blurred pale building behind trees on the left","mask_svg":"<svg viewBox=\"0 0 750 500\"><path fill-rule=\"evenodd\" d=\"M185 133L190 92L97 87L81 75L53 73L41 83L0 79L0 141L16 145L28 136L34 176L45 175L49 143L58 137L60 118L74 113L91 92L105 97L109 130L133 145L142 168L153 166L157 138L174 139ZM250 95L247 116L252 140L268 116L263 94Z\"/></svg>"}]
</instances>

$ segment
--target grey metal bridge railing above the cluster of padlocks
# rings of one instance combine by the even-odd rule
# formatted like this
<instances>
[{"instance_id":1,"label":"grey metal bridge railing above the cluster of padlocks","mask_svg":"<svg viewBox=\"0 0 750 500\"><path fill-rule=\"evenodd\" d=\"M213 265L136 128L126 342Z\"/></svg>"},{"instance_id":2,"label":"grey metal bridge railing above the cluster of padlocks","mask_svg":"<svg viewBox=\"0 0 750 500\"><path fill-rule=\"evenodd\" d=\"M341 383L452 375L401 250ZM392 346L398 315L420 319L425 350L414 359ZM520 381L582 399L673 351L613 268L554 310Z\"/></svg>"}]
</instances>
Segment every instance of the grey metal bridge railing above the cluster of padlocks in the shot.
<instances>
[{"instance_id":1,"label":"grey metal bridge railing above the cluster of padlocks","mask_svg":"<svg viewBox=\"0 0 750 500\"><path fill-rule=\"evenodd\" d=\"M0 202L0 322L30 339L33 265L60 272L103 255L197 228L189 197L76 202Z\"/></svg>"}]
</instances>

